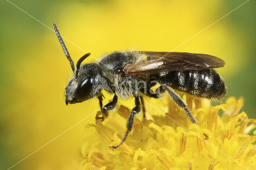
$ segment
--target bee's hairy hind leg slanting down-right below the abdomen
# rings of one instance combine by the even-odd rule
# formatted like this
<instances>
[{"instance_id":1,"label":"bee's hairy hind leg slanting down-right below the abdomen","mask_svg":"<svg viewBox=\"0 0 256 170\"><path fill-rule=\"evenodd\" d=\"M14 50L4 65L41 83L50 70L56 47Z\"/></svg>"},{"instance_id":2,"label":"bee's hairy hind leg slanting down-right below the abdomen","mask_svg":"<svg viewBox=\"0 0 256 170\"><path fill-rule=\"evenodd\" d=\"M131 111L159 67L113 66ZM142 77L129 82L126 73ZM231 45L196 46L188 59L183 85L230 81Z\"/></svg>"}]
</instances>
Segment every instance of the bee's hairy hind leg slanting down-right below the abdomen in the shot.
<instances>
[{"instance_id":1,"label":"bee's hairy hind leg slanting down-right below the abdomen","mask_svg":"<svg viewBox=\"0 0 256 170\"><path fill-rule=\"evenodd\" d=\"M192 123L196 123L196 120L188 110L187 104L181 99L181 97L177 93L175 93L175 91L171 87L163 85L163 88L166 89L166 91L169 93L169 95L171 96L172 100L176 103L176 105L178 105L178 107L182 108L186 112Z\"/></svg>"}]
</instances>

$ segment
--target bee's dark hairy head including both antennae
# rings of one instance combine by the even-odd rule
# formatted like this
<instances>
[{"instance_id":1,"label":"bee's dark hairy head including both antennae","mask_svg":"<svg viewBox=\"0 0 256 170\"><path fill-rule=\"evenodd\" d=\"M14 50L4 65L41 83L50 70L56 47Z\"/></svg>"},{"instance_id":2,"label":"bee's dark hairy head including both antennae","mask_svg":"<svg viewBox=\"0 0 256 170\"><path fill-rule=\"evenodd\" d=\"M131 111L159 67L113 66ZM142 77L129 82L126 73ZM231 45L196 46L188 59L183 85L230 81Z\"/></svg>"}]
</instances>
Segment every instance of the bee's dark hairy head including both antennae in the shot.
<instances>
[{"instance_id":1,"label":"bee's dark hairy head including both antennae","mask_svg":"<svg viewBox=\"0 0 256 170\"><path fill-rule=\"evenodd\" d=\"M68 105L68 103L80 103L99 96L101 91L99 65L96 63L87 63L81 65L82 61L90 56L90 53L87 53L78 60L75 68L74 62L71 59L68 49L66 48L66 45L63 42L60 32L55 24L53 24L53 28L66 57L70 61L70 65L74 73L65 89L66 105Z\"/></svg>"}]
</instances>

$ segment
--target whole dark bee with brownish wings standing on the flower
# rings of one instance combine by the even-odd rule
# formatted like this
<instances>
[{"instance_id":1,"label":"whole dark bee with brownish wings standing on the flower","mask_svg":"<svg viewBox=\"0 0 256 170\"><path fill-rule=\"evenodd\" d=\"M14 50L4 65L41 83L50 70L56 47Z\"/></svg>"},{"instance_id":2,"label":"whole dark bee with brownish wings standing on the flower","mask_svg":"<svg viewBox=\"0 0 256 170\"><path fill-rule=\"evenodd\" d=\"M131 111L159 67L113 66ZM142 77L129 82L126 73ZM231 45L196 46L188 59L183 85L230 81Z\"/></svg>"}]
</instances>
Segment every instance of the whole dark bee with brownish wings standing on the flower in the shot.
<instances>
[{"instance_id":1,"label":"whole dark bee with brownish wings standing on the flower","mask_svg":"<svg viewBox=\"0 0 256 170\"><path fill-rule=\"evenodd\" d=\"M122 141L117 146L110 146L111 149L118 148L124 142L132 130L134 116L140 110L145 117L142 95L161 98L167 92L192 123L196 123L196 120L174 89L207 99L223 99L226 95L224 81L213 69L225 65L218 57L184 52L115 51L97 62L81 65L90 55L87 53L78 60L75 68L57 26L53 24L53 27L74 73L65 89L66 105L97 97L102 117L96 119L104 120L108 112L115 108L118 98L135 99L135 107L126 123L127 131ZM152 91L157 84L159 87ZM104 106L102 89L114 93L112 101Z\"/></svg>"}]
</instances>

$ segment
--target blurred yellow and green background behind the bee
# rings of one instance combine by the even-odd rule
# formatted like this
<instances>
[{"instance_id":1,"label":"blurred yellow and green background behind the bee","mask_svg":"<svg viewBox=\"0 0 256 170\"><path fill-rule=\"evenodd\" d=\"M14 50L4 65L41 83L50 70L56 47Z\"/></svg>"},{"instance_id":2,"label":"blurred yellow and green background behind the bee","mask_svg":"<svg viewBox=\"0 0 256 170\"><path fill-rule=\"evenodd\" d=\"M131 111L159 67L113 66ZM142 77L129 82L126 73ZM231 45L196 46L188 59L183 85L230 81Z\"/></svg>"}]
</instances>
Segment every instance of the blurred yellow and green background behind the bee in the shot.
<instances>
[{"instance_id":1,"label":"blurred yellow and green background behind the bee","mask_svg":"<svg viewBox=\"0 0 256 170\"><path fill-rule=\"evenodd\" d=\"M136 47L172 51L245 0L11 0L46 26L98 58ZM206 53L226 61L218 73L228 95L245 97L256 118L256 1L250 0L175 51ZM96 99L65 105L70 64L54 32L6 0L0 1L0 169L8 169L96 111ZM65 40L64 40L65 41ZM76 62L84 51L67 41ZM92 60L88 59L86 62ZM105 101L106 103L106 101ZM96 114L96 113L95 113ZM12 169L77 169L90 140L88 117Z\"/></svg>"}]
</instances>

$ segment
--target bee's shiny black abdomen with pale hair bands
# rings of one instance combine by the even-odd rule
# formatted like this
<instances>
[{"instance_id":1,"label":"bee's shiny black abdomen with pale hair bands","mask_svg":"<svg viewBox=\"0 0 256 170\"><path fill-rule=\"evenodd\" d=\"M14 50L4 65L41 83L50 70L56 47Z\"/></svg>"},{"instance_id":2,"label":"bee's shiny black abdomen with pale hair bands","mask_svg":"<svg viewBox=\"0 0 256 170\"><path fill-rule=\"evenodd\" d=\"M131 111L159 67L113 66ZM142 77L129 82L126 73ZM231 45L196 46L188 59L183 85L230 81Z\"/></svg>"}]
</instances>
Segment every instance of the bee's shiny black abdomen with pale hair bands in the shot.
<instances>
[{"instance_id":1,"label":"bee's shiny black abdomen with pale hair bands","mask_svg":"<svg viewBox=\"0 0 256 170\"><path fill-rule=\"evenodd\" d=\"M160 73L160 82L198 97L222 99L226 87L214 69Z\"/></svg>"}]
</instances>

